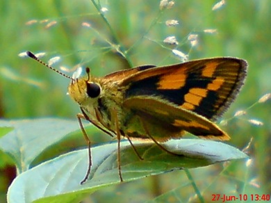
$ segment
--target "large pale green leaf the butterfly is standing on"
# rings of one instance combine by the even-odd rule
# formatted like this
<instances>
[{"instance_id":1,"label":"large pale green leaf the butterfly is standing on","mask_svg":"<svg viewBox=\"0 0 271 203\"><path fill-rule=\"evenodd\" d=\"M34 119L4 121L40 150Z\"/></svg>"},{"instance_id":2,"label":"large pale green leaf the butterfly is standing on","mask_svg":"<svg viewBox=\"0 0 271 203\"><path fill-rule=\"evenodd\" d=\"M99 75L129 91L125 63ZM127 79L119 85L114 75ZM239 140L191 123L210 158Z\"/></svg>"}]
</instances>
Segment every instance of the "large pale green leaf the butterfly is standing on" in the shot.
<instances>
[{"instance_id":1,"label":"large pale green leaf the butterfly is standing on","mask_svg":"<svg viewBox=\"0 0 271 203\"><path fill-rule=\"evenodd\" d=\"M179 156L165 152L154 143L134 142L134 145L144 160L138 158L129 142L122 142L124 181L247 158L239 149L211 140L181 139L163 144ZM99 188L119 184L116 149L115 142L92 147L92 170L83 185L80 181L88 167L87 149L64 154L19 174L8 190L8 202L79 202Z\"/></svg>"}]
</instances>

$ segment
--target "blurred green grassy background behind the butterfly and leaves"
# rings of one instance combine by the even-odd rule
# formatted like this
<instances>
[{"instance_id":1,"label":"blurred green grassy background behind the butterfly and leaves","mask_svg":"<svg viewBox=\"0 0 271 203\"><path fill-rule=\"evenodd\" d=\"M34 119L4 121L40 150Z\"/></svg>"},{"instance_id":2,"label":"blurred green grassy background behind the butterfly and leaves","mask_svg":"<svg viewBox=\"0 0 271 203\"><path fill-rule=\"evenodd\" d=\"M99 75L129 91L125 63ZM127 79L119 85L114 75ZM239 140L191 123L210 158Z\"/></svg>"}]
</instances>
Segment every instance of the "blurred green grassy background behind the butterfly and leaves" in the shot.
<instances>
[{"instance_id":1,"label":"blurred green grassy background behind the butterfly and leaves","mask_svg":"<svg viewBox=\"0 0 271 203\"><path fill-rule=\"evenodd\" d=\"M130 66L180 63L172 49L188 54L189 60L214 56L244 58L249 63L247 81L236 102L224 114L227 124L222 128L231 135L230 144L240 149L253 138L248 149L252 163L246 165L245 161L238 161L190 172L206 200L211 200L212 194L231 195L233 191L247 195L270 194L271 102L249 108L271 92L270 1L227 1L222 8L212 10L217 1L179 0L163 12L157 0L99 3L107 8L104 15L108 24L92 1L0 2L1 117L69 117L75 120L79 113L79 107L66 95L69 81L29 58L18 56L27 50L45 52L42 58L45 62L60 56L60 62L53 65L56 68L88 66L95 76ZM168 19L178 20L179 25L166 26ZM83 26L83 22L90 27ZM205 33L206 29L216 32ZM191 33L198 35L195 47L191 47L188 40ZM163 43L170 35L176 36L178 45ZM246 115L233 117L240 110L246 111ZM252 124L249 120L261 121L263 125ZM100 141L106 140L106 135L98 130L96 135L95 140L99 137ZM79 142L83 142L83 138ZM226 172L223 168L227 168ZM10 166L1 164L1 200L5 200L9 170ZM195 195L186 174L176 171L101 189L89 201L142 202L170 190L178 193L180 200Z\"/></svg>"}]
</instances>

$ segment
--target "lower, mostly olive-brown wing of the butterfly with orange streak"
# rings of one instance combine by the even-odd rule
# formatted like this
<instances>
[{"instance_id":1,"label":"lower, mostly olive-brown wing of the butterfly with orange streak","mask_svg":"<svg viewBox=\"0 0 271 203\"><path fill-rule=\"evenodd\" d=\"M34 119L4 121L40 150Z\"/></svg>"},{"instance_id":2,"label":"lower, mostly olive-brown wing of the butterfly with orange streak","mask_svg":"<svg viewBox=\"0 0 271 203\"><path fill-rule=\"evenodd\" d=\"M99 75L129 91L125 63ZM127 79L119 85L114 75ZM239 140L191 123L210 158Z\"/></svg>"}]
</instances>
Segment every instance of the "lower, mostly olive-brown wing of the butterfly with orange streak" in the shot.
<instances>
[{"instance_id":1,"label":"lower, mostly olive-brown wing of the butterfly with orange streak","mask_svg":"<svg viewBox=\"0 0 271 203\"><path fill-rule=\"evenodd\" d=\"M133 112L125 125L125 133L133 138L149 138L149 133L155 140L164 142L170 138L181 138L184 131L188 131L201 138L229 140L227 133L210 120L185 108L167 104L163 100L136 96L126 99L123 105ZM137 117L141 123L136 123ZM138 127L142 122L147 129L139 133Z\"/></svg>"}]
</instances>

